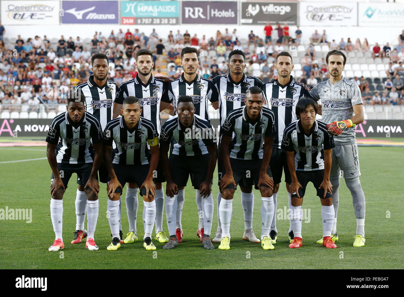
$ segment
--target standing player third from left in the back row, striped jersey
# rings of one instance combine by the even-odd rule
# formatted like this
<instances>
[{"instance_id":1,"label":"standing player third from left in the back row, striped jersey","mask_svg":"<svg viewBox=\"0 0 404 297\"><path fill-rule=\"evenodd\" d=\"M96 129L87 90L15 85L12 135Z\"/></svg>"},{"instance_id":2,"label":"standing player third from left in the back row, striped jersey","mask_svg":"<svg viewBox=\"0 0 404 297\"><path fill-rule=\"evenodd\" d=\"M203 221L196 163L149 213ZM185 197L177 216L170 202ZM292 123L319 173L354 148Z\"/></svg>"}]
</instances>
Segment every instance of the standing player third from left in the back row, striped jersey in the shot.
<instances>
[{"instance_id":1,"label":"standing player third from left in the back row, striped jersey","mask_svg":"<svg viewBox=\"0 0 404 297\"><path fill-rule=\"evenodd\" d=\"M170 81L167 87L167 96L164 97L163 101L167 103L172 103L175 108L177 108L178 99L180 96L188 95L194 100L195 114L204 118L210 122L209 112L208 112L208 101L215 103L219 101L219 95L217 89L213 82L207 80L197 73L200 61L198 59L198 50L194 47L186 46L181 51L181 66L184 69L184 73L180 78ZM179 188L178 193L178 208L176 217L176 232L178 242L182 242L183 230L181 225L181 214L184 205L184 189ZM204 219L202 213L202 198L196 193L196 204L198 206L198 230L196 235L200 238L202 242L204 230Z\"/></svg>"}]
</instances>

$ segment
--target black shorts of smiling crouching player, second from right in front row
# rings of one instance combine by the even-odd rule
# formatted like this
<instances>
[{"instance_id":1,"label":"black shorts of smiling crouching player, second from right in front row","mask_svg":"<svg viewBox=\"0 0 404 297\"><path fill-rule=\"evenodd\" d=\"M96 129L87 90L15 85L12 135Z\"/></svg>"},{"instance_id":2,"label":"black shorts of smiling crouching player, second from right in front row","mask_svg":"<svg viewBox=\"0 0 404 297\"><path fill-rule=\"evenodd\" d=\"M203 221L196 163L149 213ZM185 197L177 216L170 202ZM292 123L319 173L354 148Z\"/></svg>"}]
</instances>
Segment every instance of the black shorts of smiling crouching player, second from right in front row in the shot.
<instances>
[{"instance_id":1,"label":"black shorts of smiling crouching player, second from right in front row","mask_svg":"<svg viewBox=\"0 0 404 297\"><path fill-rule=\"evenodd\" d=\"M266 185L258 185L259 181L259 171L261 170L262 159L255 160L238 160L234 158L230 158L230 166L233 171L233 178L236 182L236 188L234 188L233 184L227 185L225 189L237 189L237 185L240 184L240 181L244 179L244 181L253 181L255 185L255 189L259 190L259 187L267 187ZM226 174L225 169L223 168L223 176ZM272 173L269 166L267 167L267 175L272 179ZM241 184L240 184L241 185Z\"/></svg>"}]
</instances>

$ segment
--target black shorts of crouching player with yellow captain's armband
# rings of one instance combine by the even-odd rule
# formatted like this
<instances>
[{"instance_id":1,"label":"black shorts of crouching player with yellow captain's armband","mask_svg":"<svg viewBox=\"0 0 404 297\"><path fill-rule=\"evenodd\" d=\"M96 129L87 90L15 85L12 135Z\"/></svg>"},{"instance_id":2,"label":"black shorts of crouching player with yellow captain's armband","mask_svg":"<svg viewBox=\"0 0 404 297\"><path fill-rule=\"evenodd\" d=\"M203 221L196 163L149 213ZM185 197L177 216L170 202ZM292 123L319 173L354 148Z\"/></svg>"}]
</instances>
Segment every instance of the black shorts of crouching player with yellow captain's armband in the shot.
<instances>
[{"instance_id":1,"label":"black shorts of crouching player with yellow captain's armband","mask_svg":"<svg viewBox=\"0 0 404 297\"><path fill-rule=\"evenodd\" d=\"M112 164L114 167L115 175L122 188L125 187L125 183L137 183L140 187L145 181L147 175L149 174L150 164L145 165L126 165L126 164ZM108 176L108 181L110 180ZM115 193L120 193L122 195L122 189L120 187L116 188ZM140 194L146 195L146 188L140 189ZM149 191L149 195L151 192Z\"/></svg>"}]
</instances>

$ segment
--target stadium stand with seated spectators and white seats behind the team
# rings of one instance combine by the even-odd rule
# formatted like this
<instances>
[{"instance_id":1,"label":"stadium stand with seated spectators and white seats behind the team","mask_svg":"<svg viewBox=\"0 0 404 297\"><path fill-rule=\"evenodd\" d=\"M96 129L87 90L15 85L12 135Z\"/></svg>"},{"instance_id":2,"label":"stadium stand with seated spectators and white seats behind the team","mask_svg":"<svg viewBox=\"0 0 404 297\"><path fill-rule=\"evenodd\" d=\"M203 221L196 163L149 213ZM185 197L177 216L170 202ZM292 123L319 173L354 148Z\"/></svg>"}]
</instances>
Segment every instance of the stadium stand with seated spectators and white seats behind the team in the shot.
<instances>
[{"instance_id":1,"label":"stadium stand with seated spectators and white seats behind the team","mask_svg":"<svg viewBox=\"0 0 404 297\"><path fill-rule=\"evenodd\" d=\"M66 93L69 88L85 82L92 74L91 55L109 50L109 80L118 84L135 78L135 55L140 48L149 48L155 53L154 74L178 78L182 74L181 49L184 46L200 48L198 73L211 79L227 73L226 57L238 48L246 53L246 74L261 78L263 82L276 75L275 57L280 51L289 51L293 57L292 75L307 84L310 76L317 82L328 79L325 57L330 48L337 46L347 55L343 76L360 85L365 104L365 119L404 119L404 42L386 44L379 57L374 52L377 45L362 46L358 40L351 44L308 43L297 44L296 39L278 42L277 30L272 31L272 42L264 44L262 37L229 34L231 43L226 44L226 35L194 36L185 38L162 38L154 32L144 33L112 31L107 36L97 33L88 36L50 38L33 36L23 39L4 37L0 40L0 116L1 118L53 118L65 111ZM191 34L191 36L193 36ZM157 55L159 40L164 46L162 55ZM168 40L173 40L168 42ZM221 42L225 42L224 44ZM223 44L223 46L221 45ZM221 48L222 46L222 48ZM380 45L380 47L383 45ZM162 46L160 46L161 48ZM393 53L391 53L393 49ZM15 53L18 53L15 55ZM224 53L224 55L223 55ZM209 110L211 118L219 114Z\"/></svg>"}]
</instances>

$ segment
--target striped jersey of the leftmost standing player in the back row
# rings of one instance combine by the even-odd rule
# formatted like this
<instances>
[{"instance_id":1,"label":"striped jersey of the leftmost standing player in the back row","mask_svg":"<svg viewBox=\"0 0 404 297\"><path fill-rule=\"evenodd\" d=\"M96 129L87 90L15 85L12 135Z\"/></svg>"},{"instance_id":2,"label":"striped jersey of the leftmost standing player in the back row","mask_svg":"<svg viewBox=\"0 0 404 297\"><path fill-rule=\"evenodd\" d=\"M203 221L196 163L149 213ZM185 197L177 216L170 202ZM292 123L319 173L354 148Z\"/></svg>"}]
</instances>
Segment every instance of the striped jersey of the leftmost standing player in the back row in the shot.
<instances>
[{"instance_id":1,"label":"striped jersey of the leftmost standing player in the back row","mask_svg":"<svg viewBox=\"0 0 404 297\"><path fill-rule=\"evenodd\" d=\"M74 91L81 88L86 96L86 111L93 114L101 127L105 129L107 123L112 120L112 112L116 91L118 86L115 82L107 82L101 87L94 82L94 76L90 75L88 80L82 84L78 84Z\"/></svg>"}]
</instances>

